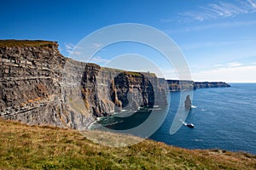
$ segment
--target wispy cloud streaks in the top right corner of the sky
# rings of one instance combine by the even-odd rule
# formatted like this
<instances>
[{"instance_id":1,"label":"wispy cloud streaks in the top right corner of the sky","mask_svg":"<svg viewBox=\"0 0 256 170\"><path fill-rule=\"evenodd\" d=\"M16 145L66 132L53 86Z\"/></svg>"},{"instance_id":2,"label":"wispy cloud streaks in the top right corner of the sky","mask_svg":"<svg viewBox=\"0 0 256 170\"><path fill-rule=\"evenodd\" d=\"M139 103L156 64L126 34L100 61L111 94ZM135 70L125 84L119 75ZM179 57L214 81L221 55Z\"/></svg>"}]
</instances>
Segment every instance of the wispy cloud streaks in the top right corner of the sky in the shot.
<instances>
[{"instance_id":1,"label":"wispy cloud streaks in the top right corner of the sky","mask_svg":"<svg viewBox=\"0 0 256 170\"><path fill-rule=\"evenodd\" d=\"M235 17L239 14L251 14L256 12L256 1L236 1L235 3L209 3L206 6L197 7L196 11L179 13L185 21L215 20L218 18Z\"/></svg>"}]
</instances>

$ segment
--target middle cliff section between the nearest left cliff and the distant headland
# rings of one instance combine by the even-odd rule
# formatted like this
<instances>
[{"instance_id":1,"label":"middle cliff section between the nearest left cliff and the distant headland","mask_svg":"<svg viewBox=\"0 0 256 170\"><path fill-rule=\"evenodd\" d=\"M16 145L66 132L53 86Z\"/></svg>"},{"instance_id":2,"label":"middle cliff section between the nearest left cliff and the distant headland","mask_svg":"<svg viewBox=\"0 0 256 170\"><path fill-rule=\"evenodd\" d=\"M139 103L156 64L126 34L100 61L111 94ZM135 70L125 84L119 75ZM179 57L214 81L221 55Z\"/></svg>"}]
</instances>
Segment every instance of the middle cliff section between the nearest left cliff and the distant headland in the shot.
<instances>
[{"instance_id":1,"label":"middle cliff section between the nearest left cliff and the distant headland","mask_svg":"<svg viewBox=\"0 0 256 170\"><path fill-rule=\"evenodd\" d=\"M66 104L75 112L85 111L87 116L110 116L122 110L137 111L139 106L167 104L167 83L152 74L119 71L71 59L67 60L63 74Z\"/></svg>"}]
</instances>

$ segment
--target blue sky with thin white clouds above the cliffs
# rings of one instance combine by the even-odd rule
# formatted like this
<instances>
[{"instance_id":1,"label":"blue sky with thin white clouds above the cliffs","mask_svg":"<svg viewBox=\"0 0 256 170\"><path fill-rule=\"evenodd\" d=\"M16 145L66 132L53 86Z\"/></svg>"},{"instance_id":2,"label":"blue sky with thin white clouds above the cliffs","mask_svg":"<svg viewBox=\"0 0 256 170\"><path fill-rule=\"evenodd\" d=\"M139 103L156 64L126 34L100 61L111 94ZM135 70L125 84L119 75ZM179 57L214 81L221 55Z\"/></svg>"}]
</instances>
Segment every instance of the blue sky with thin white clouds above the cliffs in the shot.
<instances>
[{"instance_id":1,"label":"blue sky with thin white clouds above the cliffs","mask_svg":"<svg viewBox=\"0 0 256 170\"><path fill-rule=\"evenodd\" d=\"M193 80L256 82L256 0L9 0L1 2L0 19L0 39L56 41L67 57L84 37L103 27L152 26L172 38ZM91 61L118 66L114 59L127 54L138 59L135 68L146 57L164 77L177 78L158 51L136 42L104 47Z\"/></svg>"}]
</instances>

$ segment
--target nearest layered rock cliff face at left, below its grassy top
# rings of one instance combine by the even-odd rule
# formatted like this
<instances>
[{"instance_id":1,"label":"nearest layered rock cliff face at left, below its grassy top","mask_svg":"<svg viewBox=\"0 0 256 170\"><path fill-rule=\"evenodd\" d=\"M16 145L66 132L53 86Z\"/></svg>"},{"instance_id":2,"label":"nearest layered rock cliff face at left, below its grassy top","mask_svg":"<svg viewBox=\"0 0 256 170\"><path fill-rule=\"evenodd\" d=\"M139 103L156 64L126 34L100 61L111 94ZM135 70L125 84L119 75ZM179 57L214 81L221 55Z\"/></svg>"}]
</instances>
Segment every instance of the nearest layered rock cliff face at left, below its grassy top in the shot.
<instances>
[{"instance_id":1,"label":"nearest layered rock cliff face at left, below its grassy top","mask_svg":"<svg viewBox=\"0 0 256 170\"><path fill-rule=\"evenodd\" d=\"M72 113L61 100L61 70L67 59L59 53L57 43L2 46L0 56L0 116L67 127Z\"/></svg>"}]
</instances>

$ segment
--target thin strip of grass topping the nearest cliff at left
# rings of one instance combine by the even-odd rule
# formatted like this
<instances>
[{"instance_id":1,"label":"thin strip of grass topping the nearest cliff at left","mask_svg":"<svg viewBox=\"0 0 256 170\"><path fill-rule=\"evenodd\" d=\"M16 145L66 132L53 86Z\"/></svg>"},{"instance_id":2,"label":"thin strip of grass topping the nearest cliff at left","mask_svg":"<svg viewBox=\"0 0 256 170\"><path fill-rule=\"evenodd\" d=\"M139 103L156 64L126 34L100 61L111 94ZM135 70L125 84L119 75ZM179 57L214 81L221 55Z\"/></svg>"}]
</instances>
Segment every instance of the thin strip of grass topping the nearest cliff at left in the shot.
<instances>
[{"instance_id":1,"label":"thin strip of grass topping the nearest cliff at left","mask_svg":"<svg viewBox=\"0 0 256 170\"><path fill-rule=\"evenodd\" d=\"M0 40L0 47L52 47L56 42L43 40Z\"/></svg>"}]
</instances>

